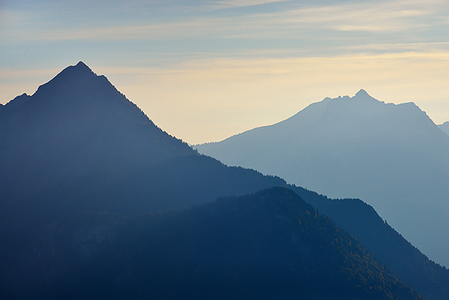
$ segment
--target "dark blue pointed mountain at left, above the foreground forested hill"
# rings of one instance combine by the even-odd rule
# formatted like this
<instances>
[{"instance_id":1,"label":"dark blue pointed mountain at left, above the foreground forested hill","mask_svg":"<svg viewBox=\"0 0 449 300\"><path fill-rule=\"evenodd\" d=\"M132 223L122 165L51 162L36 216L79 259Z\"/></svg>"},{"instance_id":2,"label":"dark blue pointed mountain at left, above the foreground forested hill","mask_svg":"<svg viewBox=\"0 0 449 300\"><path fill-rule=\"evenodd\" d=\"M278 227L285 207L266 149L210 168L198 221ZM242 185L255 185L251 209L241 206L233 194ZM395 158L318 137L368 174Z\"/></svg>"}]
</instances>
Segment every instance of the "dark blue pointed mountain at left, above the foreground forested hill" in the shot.
<instances>
[{"instance_id":1,"label":"dark blue pointed mountain at left, above the foreground forested hill","mask_svg":"<svg viewBox=\"0 0 449 300\"><path fill-rule=\"evenodd\" d=\"M180 209L285 184L198 155L82 62L8 102L0 144L3 218Z\"/></svg>"}]
</instances>

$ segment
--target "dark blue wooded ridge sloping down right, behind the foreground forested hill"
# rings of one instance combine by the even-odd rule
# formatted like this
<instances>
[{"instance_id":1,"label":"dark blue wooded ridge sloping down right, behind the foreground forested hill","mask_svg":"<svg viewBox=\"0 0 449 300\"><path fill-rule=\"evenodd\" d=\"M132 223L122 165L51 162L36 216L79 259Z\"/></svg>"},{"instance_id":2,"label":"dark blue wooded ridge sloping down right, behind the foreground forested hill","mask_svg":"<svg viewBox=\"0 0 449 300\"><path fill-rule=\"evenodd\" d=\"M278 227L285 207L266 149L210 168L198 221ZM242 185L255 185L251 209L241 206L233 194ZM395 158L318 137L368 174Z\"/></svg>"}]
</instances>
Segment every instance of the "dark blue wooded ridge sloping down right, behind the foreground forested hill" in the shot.
<instances>
[{"instance_id":1,"label":"dark blue wooded ridge sloping down right, behind the foreground forested hill","mask_svg":"<svg viewBox=\"0 0 449 300\"><path fill-rule=\"evenodd\" d=\"M302 187L287 185L320 214L352 234L403 283L428 299L449 299L449 270L430 261L360 199L330 199Z\"/></svg>"}]
</instances>

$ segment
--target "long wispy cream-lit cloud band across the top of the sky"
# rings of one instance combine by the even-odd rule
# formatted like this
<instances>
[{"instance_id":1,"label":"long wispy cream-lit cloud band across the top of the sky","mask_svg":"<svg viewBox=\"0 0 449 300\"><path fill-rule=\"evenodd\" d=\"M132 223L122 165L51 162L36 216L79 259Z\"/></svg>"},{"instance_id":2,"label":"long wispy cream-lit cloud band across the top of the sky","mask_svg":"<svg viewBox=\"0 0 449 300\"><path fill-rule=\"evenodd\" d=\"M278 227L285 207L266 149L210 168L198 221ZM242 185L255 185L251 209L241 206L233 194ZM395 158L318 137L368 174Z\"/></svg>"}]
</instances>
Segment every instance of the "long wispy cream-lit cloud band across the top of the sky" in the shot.
<instances>
[{"instance_id":1,"label":"long wispy cream-lit cloud band across the top of the sky","mask_svg":"<svg viewBox=\"0 0 449 300\"><path fill-rule=\"evenodd\" d=\"M280 0L225 0L214 2L218 8L256 6L276 3ZM338 3L333 6L298 8L291 1L282 11L236 15L189 15L176 19L151 21L137 19L126 26L102 26L82 28L73 25L42 28L23 28L19 32L1 32L11 40L146 40L174 39L180 37L295 39L298 34L313 35L314 30L352 32L401 32L427 30L435 22L444 24L447 4L440 0L375 1ZM48 22L48 20L43 20ZM36 22L39 24L39 22ZM39 27L39 25L37 26ZM301 36L300 35L300 36ZM330 38L330 37L329 37Z\"/></svg>"}]
</instances>

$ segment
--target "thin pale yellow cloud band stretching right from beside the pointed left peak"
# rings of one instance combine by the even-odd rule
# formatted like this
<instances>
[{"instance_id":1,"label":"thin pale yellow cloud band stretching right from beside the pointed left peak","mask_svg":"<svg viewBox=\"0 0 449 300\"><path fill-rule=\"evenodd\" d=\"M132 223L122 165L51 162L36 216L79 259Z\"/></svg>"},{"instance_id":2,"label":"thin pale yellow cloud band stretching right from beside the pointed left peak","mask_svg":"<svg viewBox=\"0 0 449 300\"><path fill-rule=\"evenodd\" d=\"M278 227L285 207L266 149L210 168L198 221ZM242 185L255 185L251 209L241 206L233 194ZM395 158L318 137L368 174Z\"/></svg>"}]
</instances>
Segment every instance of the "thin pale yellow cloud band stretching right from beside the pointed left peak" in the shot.
<instances>
[{"instance_id":1,"label":"thin pale yellow cloud band stretching right from beside the pointed left peak","mask_svg":"<svg viewBox=\"0 0 449 300\"><path fill-rule=\"evenodd\" d=\"M438 51L432 53L386 53L369 54L361 53L359 55L339 55L334 57L285 57L285 58L208 58L192 59L171 68L163 67L99 67L102 72L111 74L136 74L136 75L189 75L197 78L220 77L228 79L247 77L252 75L276 75L276 74L294 74L302 73L305 69L328 69L334 68L334 71L347 68L359 68L361 64L370 66L371 69L381 70L385 66L395 68L397 64L403 64L406 68L426 68L428 72L434 72L446 76L449 67L449 51ZM407 66L410 64L410 66ZM305 68L307 66L307 68ZM401 73L401 70L395 73ZM379 75L379 74L378 74ZM390 76L385 73L385 76ZM322 78L322 77L320 77ZM315 78L314 80L316 80ZM338 79L340 81L340 79Z\"/></svg>"}]
</instances>

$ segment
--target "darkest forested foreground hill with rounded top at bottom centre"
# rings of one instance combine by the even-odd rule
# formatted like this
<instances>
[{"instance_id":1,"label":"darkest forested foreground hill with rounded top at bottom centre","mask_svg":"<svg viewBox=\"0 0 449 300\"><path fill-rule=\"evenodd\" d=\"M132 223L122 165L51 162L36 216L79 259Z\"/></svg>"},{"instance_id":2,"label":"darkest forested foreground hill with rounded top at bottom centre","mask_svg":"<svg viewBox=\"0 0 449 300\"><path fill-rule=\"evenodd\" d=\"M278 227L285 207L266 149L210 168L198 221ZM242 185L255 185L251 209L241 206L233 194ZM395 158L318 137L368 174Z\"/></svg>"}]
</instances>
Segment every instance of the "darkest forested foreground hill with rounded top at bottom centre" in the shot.
<instances>
[{"instance_id":1,"label":"darkest forested foreground hill with rounded top at bottom centre","mask_svg":"<svg viewBox=\"0 0 449 300\"><path fill-rule=\"evenodd\" d=\"M45 281L28 281L19 299L425 299L280 187L52 228L32 261Z\"/></svg>"}]
</instances>

